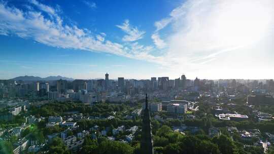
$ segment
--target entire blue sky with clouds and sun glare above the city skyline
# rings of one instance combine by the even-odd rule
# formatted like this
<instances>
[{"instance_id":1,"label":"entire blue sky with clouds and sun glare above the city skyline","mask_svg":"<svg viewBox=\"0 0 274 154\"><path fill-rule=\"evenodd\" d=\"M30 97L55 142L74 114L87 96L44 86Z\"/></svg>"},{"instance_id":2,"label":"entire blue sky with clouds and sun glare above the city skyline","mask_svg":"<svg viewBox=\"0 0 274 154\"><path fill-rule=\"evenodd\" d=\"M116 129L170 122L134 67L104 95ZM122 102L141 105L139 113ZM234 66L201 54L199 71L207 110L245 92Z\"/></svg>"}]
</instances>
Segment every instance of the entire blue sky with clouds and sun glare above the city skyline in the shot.
<instances>
[{"instance_id":1,"label":"entire blue sky with clouds and sun glare above the city skyline","mask_svg":"<svg viewBox=\"0 0 274 154\"><path fill-rule=\"evenodd\" d=\"M0 79L274 78L273 3L0 1Z\"/></svg>"}]
</instances>

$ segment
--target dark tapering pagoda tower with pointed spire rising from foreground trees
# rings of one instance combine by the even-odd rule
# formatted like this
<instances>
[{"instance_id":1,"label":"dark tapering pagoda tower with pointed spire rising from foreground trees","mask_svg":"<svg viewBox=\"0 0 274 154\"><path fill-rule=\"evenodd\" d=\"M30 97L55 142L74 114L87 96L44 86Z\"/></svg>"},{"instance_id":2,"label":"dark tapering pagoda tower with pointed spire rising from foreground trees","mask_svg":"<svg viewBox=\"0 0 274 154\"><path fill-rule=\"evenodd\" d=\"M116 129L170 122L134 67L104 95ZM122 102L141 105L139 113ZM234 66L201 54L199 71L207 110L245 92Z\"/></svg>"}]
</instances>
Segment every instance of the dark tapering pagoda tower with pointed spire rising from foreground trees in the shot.
<instances>
[{"instance_id":1,"label":"dark tapering pagoda tower with pointed spire rising from foreground trees","mask_svg":"<svg viewBox=\"0 0 274 154\"><path fill-rule=\"evenodd\" d=\"M154 153L147 94L146 94L146 107L143 110L141 153L145 153L145 154Z\"/></svg>"}]
</instances>

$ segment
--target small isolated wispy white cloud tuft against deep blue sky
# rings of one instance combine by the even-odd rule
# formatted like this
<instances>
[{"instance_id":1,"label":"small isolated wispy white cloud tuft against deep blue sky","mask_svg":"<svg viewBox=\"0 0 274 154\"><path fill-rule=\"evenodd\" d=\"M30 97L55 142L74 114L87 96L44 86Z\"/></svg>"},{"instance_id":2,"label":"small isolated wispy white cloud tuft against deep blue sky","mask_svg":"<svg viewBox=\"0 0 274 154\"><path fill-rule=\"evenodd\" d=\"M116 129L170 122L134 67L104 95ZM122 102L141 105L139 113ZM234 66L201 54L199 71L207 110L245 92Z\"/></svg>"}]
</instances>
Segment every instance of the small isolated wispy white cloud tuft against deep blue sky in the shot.
<instances>
[{"instance_id":1,"label":"small isolated wispy white cloud tuft against deep blue sky","mask_svg":"<svg viewBox=\"0 0 274 154\"><path fill-rule=\"evenodd\" d=\"M137 27L131 27L129 24L129 20L125 20L122 25L116 25L121 28L127 35L125 35L122 40L125 42L133 42L136 40L140 40L143 38L145 31L139 31Z\"/></svg>"}]
</instances>

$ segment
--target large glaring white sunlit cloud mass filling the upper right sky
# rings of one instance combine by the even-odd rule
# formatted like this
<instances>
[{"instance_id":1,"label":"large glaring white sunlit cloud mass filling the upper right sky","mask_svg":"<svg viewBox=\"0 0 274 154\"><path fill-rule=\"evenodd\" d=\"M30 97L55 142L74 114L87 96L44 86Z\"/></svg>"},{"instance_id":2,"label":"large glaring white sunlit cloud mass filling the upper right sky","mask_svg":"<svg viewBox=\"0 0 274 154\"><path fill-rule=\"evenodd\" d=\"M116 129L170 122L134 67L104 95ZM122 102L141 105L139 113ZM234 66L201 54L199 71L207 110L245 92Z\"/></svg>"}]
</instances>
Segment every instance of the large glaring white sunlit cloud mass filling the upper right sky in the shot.
<instances>
[{"instance_id":1,"label":"large glaring white sunlit cloud mass filling the upper right sky","mask_svg":"<svg viewBox=\"0 0 274 154\"><path fill-rule=\"evenodd\" d=\"M165 58L185 66L181 67L184 71L218 67L210 65L219 60L218 56L243 52L274 34L273 6L271 0L186 1L168 17L155 22L152 40L158 48L166 44ZM167 25L171 25L171 32L165 41L158 40L159 32Z\"/></svg>"}]
</instances>

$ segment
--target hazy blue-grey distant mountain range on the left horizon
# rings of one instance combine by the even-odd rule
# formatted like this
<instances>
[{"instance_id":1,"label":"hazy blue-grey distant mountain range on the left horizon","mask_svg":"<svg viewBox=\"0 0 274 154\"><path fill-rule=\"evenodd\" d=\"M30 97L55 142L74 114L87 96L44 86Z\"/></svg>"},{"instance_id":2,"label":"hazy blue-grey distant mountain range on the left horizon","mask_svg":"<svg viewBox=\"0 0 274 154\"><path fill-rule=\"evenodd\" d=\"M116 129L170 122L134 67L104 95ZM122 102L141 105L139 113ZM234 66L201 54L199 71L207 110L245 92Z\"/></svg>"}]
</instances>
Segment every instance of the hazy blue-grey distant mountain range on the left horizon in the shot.
<instances>
[{"instance_id":1,"label":"hazy blue-grey distant mountain range on the left horizon","mask_svg":"<svg viewBox=\"0 0 274 154\"><path fill-rule=\"evenodd\" d=\"M48 76L47 78L41 78L39 76L18 76L16 78L13 78L11 80L15 80L15 81L19 81L19 80L22 80L22 81L54 81L54 80L67 80L67 81L73 81L74 79L73 78L66 78L66 77L63 77L63 76Z\"/></svg>"}]
</instances>

